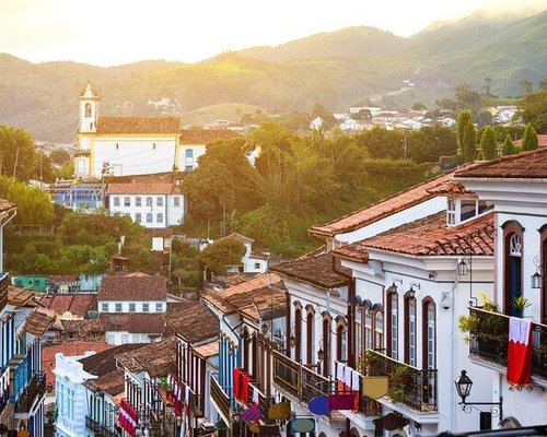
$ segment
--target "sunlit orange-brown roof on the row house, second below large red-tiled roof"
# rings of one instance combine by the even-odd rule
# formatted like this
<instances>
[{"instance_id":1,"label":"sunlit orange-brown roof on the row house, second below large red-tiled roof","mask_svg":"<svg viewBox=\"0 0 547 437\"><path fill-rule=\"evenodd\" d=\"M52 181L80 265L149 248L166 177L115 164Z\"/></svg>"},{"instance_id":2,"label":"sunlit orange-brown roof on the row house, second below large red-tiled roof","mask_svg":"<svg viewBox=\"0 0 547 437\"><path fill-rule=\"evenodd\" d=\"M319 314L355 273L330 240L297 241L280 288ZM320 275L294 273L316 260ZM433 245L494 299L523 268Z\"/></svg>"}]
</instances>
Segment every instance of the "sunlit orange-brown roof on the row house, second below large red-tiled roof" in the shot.
<instances>
[{"instance_id":1,"label":"sunlit orange-brown roof on the row house, second below large red-tiled roof","mask_svg":"<svg viewBox=\"0 0 547 437\"><path fill-rule=\"evenodd\" d=\"M286 310L286 287L281 279L275 274L259 274L247 281L229 286L222 292L211 292L202 296L225 315L240 312L254 320L259 319L258 311L272 309Z\"/></svg>"}]
</instances>

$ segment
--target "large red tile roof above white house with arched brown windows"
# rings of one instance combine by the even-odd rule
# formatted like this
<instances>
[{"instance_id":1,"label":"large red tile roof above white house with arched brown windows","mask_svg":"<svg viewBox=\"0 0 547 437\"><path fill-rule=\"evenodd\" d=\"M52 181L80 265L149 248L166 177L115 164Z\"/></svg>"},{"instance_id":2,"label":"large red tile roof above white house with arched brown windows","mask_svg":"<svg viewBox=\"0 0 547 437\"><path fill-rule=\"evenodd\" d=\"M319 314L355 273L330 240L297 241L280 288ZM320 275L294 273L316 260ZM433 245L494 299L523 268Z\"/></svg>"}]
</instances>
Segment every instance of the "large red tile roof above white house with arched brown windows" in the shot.
<instances>
[{"instance_id":1,"label":"large red tile roof above white house with arched brown windows","mask_svg":"<svg viewBox=\"0 0 547 437\"><path fill-rule=\"evenodd\" d=\"M407 223L374 237L335 250L335 256L364 262L369 249L423 256L493 256L493 213L489 212L459 226L446 226L440 212Z\"/></svg>"}]
</instances>

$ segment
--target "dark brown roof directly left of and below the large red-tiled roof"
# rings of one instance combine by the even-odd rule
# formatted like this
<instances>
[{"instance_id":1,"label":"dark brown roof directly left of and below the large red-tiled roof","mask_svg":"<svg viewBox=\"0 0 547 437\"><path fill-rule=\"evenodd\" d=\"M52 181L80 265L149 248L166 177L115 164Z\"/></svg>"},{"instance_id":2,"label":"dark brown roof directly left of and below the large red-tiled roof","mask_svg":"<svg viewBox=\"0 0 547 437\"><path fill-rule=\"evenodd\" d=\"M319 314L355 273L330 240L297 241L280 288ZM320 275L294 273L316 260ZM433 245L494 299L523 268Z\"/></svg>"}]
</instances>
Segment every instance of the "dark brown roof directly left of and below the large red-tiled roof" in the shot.
<instances>
[{"instance_id":1,"label":"dark brown roof directly left of and below the large red-tiled roof","mask_svg":"<svg viewBox=\"0 0 547 437\"><path fill-rule=\"evenodd\" d=\"M333 253L330 252L318 255L314 252L307 257L281 262L270 268L270 270L322 288L333 288L349 284L345 275L334 271ZM348 275L351 274L350 270L340 265L339 260L336 260L336 270L346 272Z\"/></svg>"}]
</instances>

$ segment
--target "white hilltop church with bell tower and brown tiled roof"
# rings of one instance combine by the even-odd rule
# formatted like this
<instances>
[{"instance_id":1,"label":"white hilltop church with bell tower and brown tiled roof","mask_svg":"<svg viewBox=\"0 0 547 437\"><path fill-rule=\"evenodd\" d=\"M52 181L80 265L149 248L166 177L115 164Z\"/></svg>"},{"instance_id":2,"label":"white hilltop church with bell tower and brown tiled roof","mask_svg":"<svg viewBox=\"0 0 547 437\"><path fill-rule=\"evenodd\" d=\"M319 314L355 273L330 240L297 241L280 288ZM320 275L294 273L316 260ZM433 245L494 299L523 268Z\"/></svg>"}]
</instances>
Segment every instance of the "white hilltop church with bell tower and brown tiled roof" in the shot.
<instances>
[{"instance_id":1,"label":"white hilltop church with bell tower and brown tiled roof","mask_svg":"<svg viewBox=\"0 0 547 437\"><path fill-rule=\"evenodd\" d=\"M236 135L230 130L185 130L179 117L100 117L98 101L88 82L79 102L77 178L191 172L207 143Z\"/></svg>"}]
</instances>

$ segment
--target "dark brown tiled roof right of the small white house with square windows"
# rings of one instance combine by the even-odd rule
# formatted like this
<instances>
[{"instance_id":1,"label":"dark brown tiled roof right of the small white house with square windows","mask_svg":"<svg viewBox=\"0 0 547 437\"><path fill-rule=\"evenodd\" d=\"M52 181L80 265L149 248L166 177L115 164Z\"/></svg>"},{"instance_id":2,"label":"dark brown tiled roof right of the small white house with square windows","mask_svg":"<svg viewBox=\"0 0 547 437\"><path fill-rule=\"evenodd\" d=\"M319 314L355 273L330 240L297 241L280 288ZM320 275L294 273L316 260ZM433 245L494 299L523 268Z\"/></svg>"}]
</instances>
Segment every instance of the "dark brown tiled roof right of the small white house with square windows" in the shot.
<instances>
[{"instance_id":1,"label":"dark brown tiled roof right of the small white house with square windows","mask_svg":"<svg viewBox=\"0 0 547 437\"><path fill-rule=\"evenodd\" d=\"M170 312L166 322L189 343L199 343L219 334L219 320L201 302L186 305L182 311Z\"/></svg>"}]
</instances>

